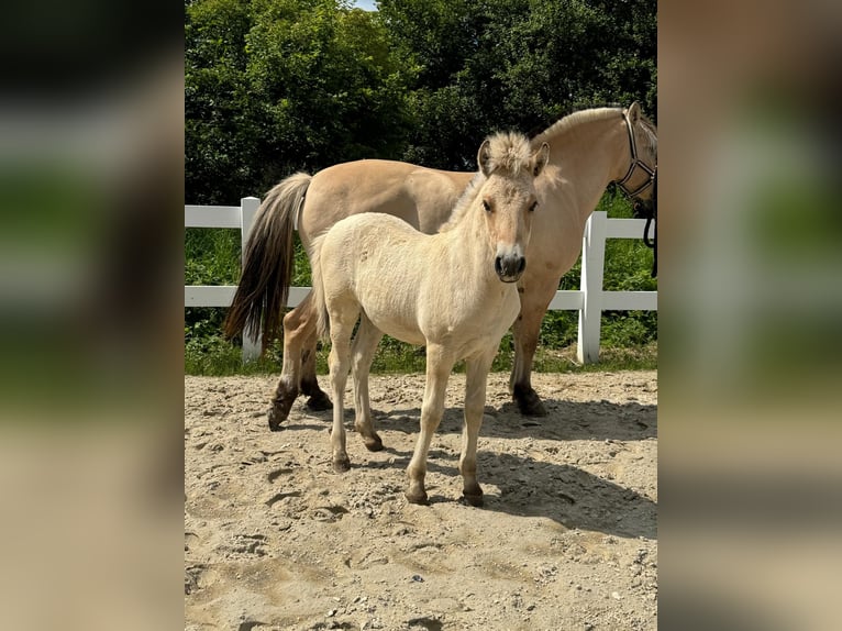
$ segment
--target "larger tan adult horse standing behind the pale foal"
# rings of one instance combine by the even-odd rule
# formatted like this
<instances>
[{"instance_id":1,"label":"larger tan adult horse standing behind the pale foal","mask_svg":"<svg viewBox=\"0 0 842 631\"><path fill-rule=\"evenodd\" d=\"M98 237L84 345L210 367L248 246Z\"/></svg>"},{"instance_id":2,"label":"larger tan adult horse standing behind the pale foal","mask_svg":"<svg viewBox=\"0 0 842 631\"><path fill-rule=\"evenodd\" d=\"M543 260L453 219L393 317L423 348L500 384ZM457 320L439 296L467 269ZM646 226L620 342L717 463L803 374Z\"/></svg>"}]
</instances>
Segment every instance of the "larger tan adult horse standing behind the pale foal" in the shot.
<instances>
[{"instance_id":1,"label":"larger tan adult horse standing behind the pale foal","mask_svg":"<svg viewBox=\"0 0 842 631\"><path fill-rule=\"evenodd\" d=\"M651 206L657 163L654 125L632 103L628 110L598 108L574 112L532 140L551 145L547 167L535 181L542 212L528 253L532 264L521 279L521 313L514 323L514 365L510 390L522 413L546 410L531 385L541 320L558 280L581 251L585 222L606 187L614 181L643 206ZM473 174L429 169L389 160L357 160L314 176L295 174L275 186L255 218L245 250L240 286L225 332L263 328L264 347L277 337L291 278L292 233L312 255L312 240L340 219L359 212L399 217L425 233L448 218ZM651 208L649 209L652 210ZM330 399L315 378L315 314L310 296L282 319L284 365L269 410L269 428L280 429L299 392L313 409Z\"/></svg>"}]
</instances>

